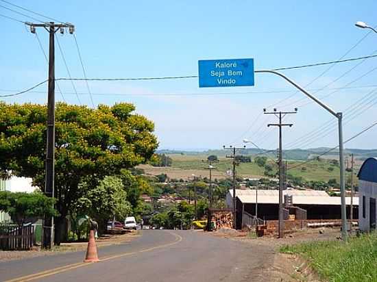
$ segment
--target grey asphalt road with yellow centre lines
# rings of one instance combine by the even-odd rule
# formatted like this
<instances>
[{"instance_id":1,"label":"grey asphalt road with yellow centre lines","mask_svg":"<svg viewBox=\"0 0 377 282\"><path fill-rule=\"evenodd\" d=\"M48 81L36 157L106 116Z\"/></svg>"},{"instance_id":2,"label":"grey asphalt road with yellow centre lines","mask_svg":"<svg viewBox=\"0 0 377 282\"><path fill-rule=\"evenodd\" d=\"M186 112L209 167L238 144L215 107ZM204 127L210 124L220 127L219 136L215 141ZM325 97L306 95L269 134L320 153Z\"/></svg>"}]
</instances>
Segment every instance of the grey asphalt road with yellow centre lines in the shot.
<instances>
[{"instance_id":1,"label":"grey asphalt road with yellow centre lines","mask_svg":"<svg viewBox=\"0 0 377 282\"><path fill-rule=\"evenodd\" d=\"M99 248L97 263L84 253L0 263L1 281L269 281L273 251L197 231L145 230L132 242Z\"/></svg>"}]
</instances>

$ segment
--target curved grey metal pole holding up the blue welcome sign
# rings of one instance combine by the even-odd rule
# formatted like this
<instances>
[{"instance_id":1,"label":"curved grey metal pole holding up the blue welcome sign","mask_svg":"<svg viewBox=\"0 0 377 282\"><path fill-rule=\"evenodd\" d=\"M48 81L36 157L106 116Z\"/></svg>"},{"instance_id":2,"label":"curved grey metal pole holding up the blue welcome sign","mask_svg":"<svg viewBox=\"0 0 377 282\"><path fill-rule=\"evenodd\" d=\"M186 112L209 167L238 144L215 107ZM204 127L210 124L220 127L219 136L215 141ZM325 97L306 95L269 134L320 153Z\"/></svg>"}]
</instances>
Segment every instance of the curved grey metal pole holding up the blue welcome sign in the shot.
<instances>
[{"instance_id":1,"label":"curved grey metal pole holding up the blue welcome sign","mask_svg":"<svg viewBox=\"0 0 377 282\"><path fill-rule=\"evenodd\" d=\"M342 125L342 118L343 114L341 112L335 112L332 110L328 105L322 103L314 97L312 94L308 93L304 88L296 84L293 80L289 79L282 73L279 73L277 71L269 71L269 70L262 70L262 71L254 71L254 73L271 73L273 75L278 75L279 77L282 77L286 81L288 81L290 84L295 86L298 90L306 94L307 97L315 101L318 105L323 107L326 111L328 111L332 116L335 116L335 118L338 119L338 128L339 128L339 166L340 166L340 182L341 182L341 238L342 240L347 239L347 214L345 209L345 179L344 179L344 153L343 153L343 125Z\"/></svg>"}]
</instances>

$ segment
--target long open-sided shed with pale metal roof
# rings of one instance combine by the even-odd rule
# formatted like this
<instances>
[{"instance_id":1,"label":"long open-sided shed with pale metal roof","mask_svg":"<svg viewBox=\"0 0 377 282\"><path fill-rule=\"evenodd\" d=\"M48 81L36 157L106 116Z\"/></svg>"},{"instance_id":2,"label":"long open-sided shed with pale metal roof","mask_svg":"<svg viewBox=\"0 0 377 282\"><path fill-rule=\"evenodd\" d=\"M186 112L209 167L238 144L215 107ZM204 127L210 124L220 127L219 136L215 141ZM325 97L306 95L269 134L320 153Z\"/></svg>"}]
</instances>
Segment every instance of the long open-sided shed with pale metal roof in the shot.
<instances>
[{"instance_id":1,"label":"long open-sided shed with pale metal roof","mask_svg":"<svg viewBox=\"0 0 377 282\"><path fill-rule=\"evenodd\" d=\"M377 164L376 164L377 165ZM377 188L377 184L376 184ZM232 207L233 191L226 196L228 207ZM287 204L287 219L330 220L341 218L341 198L329 196L325 191L284 190L284 198L290 198ZM287 197L289 196L289 197ZM346 197L347 214L350 214L351 198ZM353 198L353 216L358 218L358 197ZM241 228L244 212L257 215L262 220L278 220L278 190L236 190L236 223Z\"/></svg>"}]
</instances>

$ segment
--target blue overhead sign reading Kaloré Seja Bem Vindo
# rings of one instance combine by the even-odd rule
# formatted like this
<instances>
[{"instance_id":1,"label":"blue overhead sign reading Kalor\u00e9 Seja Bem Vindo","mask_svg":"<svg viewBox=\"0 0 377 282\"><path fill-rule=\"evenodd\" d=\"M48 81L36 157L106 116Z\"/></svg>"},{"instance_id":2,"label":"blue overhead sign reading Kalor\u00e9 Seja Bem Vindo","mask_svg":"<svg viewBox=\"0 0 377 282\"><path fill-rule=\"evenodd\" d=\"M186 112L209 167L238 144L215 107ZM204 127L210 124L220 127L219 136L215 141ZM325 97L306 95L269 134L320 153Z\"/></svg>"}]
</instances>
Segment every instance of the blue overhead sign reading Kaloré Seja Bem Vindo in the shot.
<instances>
[{"instance_id":1,"label":"blue overhead sign reading Kalor\u00e9 Seja Bem Vindo","mask_svg":"<svg viewBox=\"0 0 377 282\"><path fill-rule=\"evenodd\" d=\"M254 86L254 59L199 60L199 87Z\"/></svg>"}]
</instances>

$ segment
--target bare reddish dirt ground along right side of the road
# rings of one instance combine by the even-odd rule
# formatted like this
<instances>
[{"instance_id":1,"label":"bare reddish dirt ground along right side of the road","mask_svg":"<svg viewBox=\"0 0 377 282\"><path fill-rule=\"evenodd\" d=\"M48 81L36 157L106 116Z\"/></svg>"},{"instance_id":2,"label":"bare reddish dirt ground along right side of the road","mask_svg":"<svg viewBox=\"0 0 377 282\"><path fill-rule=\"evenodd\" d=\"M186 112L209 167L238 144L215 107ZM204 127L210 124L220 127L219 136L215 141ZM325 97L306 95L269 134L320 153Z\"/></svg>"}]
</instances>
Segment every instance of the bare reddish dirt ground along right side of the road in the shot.
<instances>
[{"instance_id":1,"label":"bare reddish dirt ground along right side of the road","mask_svg":"<svg viewBox=\"0 0 377 282\"><path fill-rule=\"evenodd\" d=\"M271 266L265 270L265 276L269 277L269 281L271 282L318 282L320 280L317 274L313 272L304 259L297 255L279 253L279 247L286 244L300 244L301 242L313 240L339 240L340 230L337 228L300 230L286 235L285 238L282 239L273 236L256 238L252 233L234 231L233 229L223 229L210 234L230 240L242 240L247 244L271 248L275 253L274 261Z\"/></svg>"}]
</instances>

